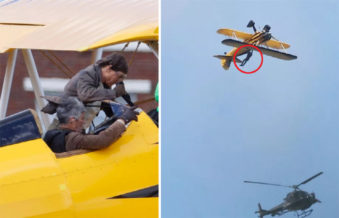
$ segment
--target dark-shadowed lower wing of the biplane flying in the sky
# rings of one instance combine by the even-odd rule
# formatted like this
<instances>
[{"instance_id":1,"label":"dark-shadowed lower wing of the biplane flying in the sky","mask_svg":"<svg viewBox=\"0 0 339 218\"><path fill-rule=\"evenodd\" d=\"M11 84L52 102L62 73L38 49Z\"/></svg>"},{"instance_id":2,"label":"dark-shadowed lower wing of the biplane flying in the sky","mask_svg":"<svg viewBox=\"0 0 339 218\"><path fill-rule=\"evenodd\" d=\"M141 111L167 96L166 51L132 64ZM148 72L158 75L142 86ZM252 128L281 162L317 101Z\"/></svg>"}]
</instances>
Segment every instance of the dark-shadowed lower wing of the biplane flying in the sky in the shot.
<instances>
[{"instance_id":1,"label":"dark-shadowed lower wing of the biplane flying in the sky","mask_svg":"<svg viewBox=\"0 0 339 218\"><path fill-rule=\"evenodd\" d=\"M236 40L233 40L233 39L225 39L221 43L225 44L225 45L232 46L232 47L236 47L236 48L239 48L243 45L247 45L247 43L239 42L239 41L236 41ZM276 50L267 49L267 48L258 47L258 46L256 46L256 47L262 52L263 55L271 56L273 58L279 58L279 59L283 59L283 60L294 60L294 59L297 58L294 55L286 54L286 53L279 52L279 51L276 51ZM247 49L258 51L257 49L250 47L250 46L248 46Z\"/></svg>"}]
</instances>

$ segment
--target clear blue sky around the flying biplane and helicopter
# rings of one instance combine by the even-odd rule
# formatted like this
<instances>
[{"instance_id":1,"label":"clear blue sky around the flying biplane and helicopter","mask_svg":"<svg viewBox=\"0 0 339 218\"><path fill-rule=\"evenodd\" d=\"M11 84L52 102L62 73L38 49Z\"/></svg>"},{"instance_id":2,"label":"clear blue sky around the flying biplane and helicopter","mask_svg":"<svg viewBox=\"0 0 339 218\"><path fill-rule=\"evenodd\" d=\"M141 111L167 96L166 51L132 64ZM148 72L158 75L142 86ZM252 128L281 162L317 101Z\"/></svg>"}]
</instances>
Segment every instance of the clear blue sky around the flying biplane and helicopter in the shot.
<instances>
[{"instance_id":1,"label":"clear blue sky around the flying biplane and helicopter","mask_svg":"<svg viewBox=\"0 0 339 218\"><path fill-rule=\"evenodd\" d=\"M161 1L162 218L255 218L297 185L309 218L339 217L339 1ZM220 60L220 28L265 24L287 51L256 73ZM245 57L241 57L243 59ZM260 54L243 67L255 70ZM268 216L270 217L270 216ZM282 218L294 218L293 213Z\"/></svg>"}]
</instances>

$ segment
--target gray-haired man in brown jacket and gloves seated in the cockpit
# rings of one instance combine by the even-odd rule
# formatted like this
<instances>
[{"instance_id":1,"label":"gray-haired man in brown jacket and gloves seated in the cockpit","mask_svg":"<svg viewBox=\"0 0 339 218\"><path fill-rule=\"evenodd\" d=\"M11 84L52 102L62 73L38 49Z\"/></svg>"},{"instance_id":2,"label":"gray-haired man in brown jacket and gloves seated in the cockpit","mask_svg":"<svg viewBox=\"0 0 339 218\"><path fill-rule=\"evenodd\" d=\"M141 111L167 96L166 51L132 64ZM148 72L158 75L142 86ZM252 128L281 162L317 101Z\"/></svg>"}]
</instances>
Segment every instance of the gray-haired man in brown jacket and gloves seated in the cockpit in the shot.
<instances>
[{"instance_id":1,"label":"gray-haired man in brown jacket and gloves seated in the cockpit","mask_svg":"<svg viewBox=\"0 0 339 218\"><path fill-rule=\"evenodd\" d=\"M44 141L55 153L77 149L98 150L107 148L125 131L125 125L132 120L138 121L137 106L128 108L123 114L98 135L83 135L80 132L85 124L85 106L75 97L69 97L57 107L60 121L58 129L47 131Z\"/></svg>"}]
</instances>

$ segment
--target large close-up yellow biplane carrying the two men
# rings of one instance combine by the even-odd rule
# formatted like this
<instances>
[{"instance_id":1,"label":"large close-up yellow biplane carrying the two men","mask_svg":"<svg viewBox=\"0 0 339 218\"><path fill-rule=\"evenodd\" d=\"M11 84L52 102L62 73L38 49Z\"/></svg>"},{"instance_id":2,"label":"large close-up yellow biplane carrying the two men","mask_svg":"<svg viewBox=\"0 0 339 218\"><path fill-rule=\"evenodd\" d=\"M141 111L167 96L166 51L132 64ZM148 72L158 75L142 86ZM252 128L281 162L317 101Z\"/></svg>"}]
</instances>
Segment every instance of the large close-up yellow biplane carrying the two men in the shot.
<instances>
[{"instance_id":1,"label":"large close-up yellow biplane carrying the two men","mask_svg":"<svg viewBox=\"0 0 339 218\"><path fill-rule=\"evenodd\" d=\"M9 52L0 99L0 217L158 217L158 128L141 109L107 149L60 154L41 138L34 110L5 117L19 49L41 109L47 102L31 49L92 50L95 63L105 46L142 42L158 57L158 0L2 1L0 14L0 53ZM108 105L113 113L126 107ZM49 119L42 113L47 127Z\"/></svg>"}]
</instances>

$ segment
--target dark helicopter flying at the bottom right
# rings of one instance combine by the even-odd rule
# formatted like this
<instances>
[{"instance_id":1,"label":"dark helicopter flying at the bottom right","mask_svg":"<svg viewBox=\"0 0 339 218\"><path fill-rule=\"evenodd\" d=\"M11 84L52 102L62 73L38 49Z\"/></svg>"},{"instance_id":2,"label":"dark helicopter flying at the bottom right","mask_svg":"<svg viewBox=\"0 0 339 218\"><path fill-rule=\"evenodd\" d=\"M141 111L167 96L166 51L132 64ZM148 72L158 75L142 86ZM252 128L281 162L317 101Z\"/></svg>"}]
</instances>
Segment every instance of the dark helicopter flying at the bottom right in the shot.
<instances>
[{"instance_id":1,"label":"dark helicopter flying at the bottom right","mask_svg":"<svg viewBox=\"0 0 339 218\"><path fill-rule=\"evenodd\" d=\"M294 189L292 192L288 193L286 195L286 198L284 198L284 202L273 207L270 210L262 210L262 207L260 203L258 203L259 211L256 211L255 213L259 213L260 218L263 218L263 216L270 215L272 217L278 215L281 216L283 214L286 214L288 212L295 212L298 216L298 218L305 218L309 216L313 209L310 209L306 211L312 204L314 203L322 203L318 199L315 198L315 193L308 193L306 191L303 191L299 189L299 186L304 185L314 179L315 177L323 174L323 172L320 172L318 174L313 175L312 177L308 178L304 182L300 183L299 185L293 185L293 186L283 186L283 185L277 185L277 184L271 184L271 183L262 183L262 182L250 182L250 181L244 181L247 183L258 183L263 185L272 185L272 186L283 186ZM298 213L298 210L301 211L301 213Z\"/></svg>"}]
</instances>

